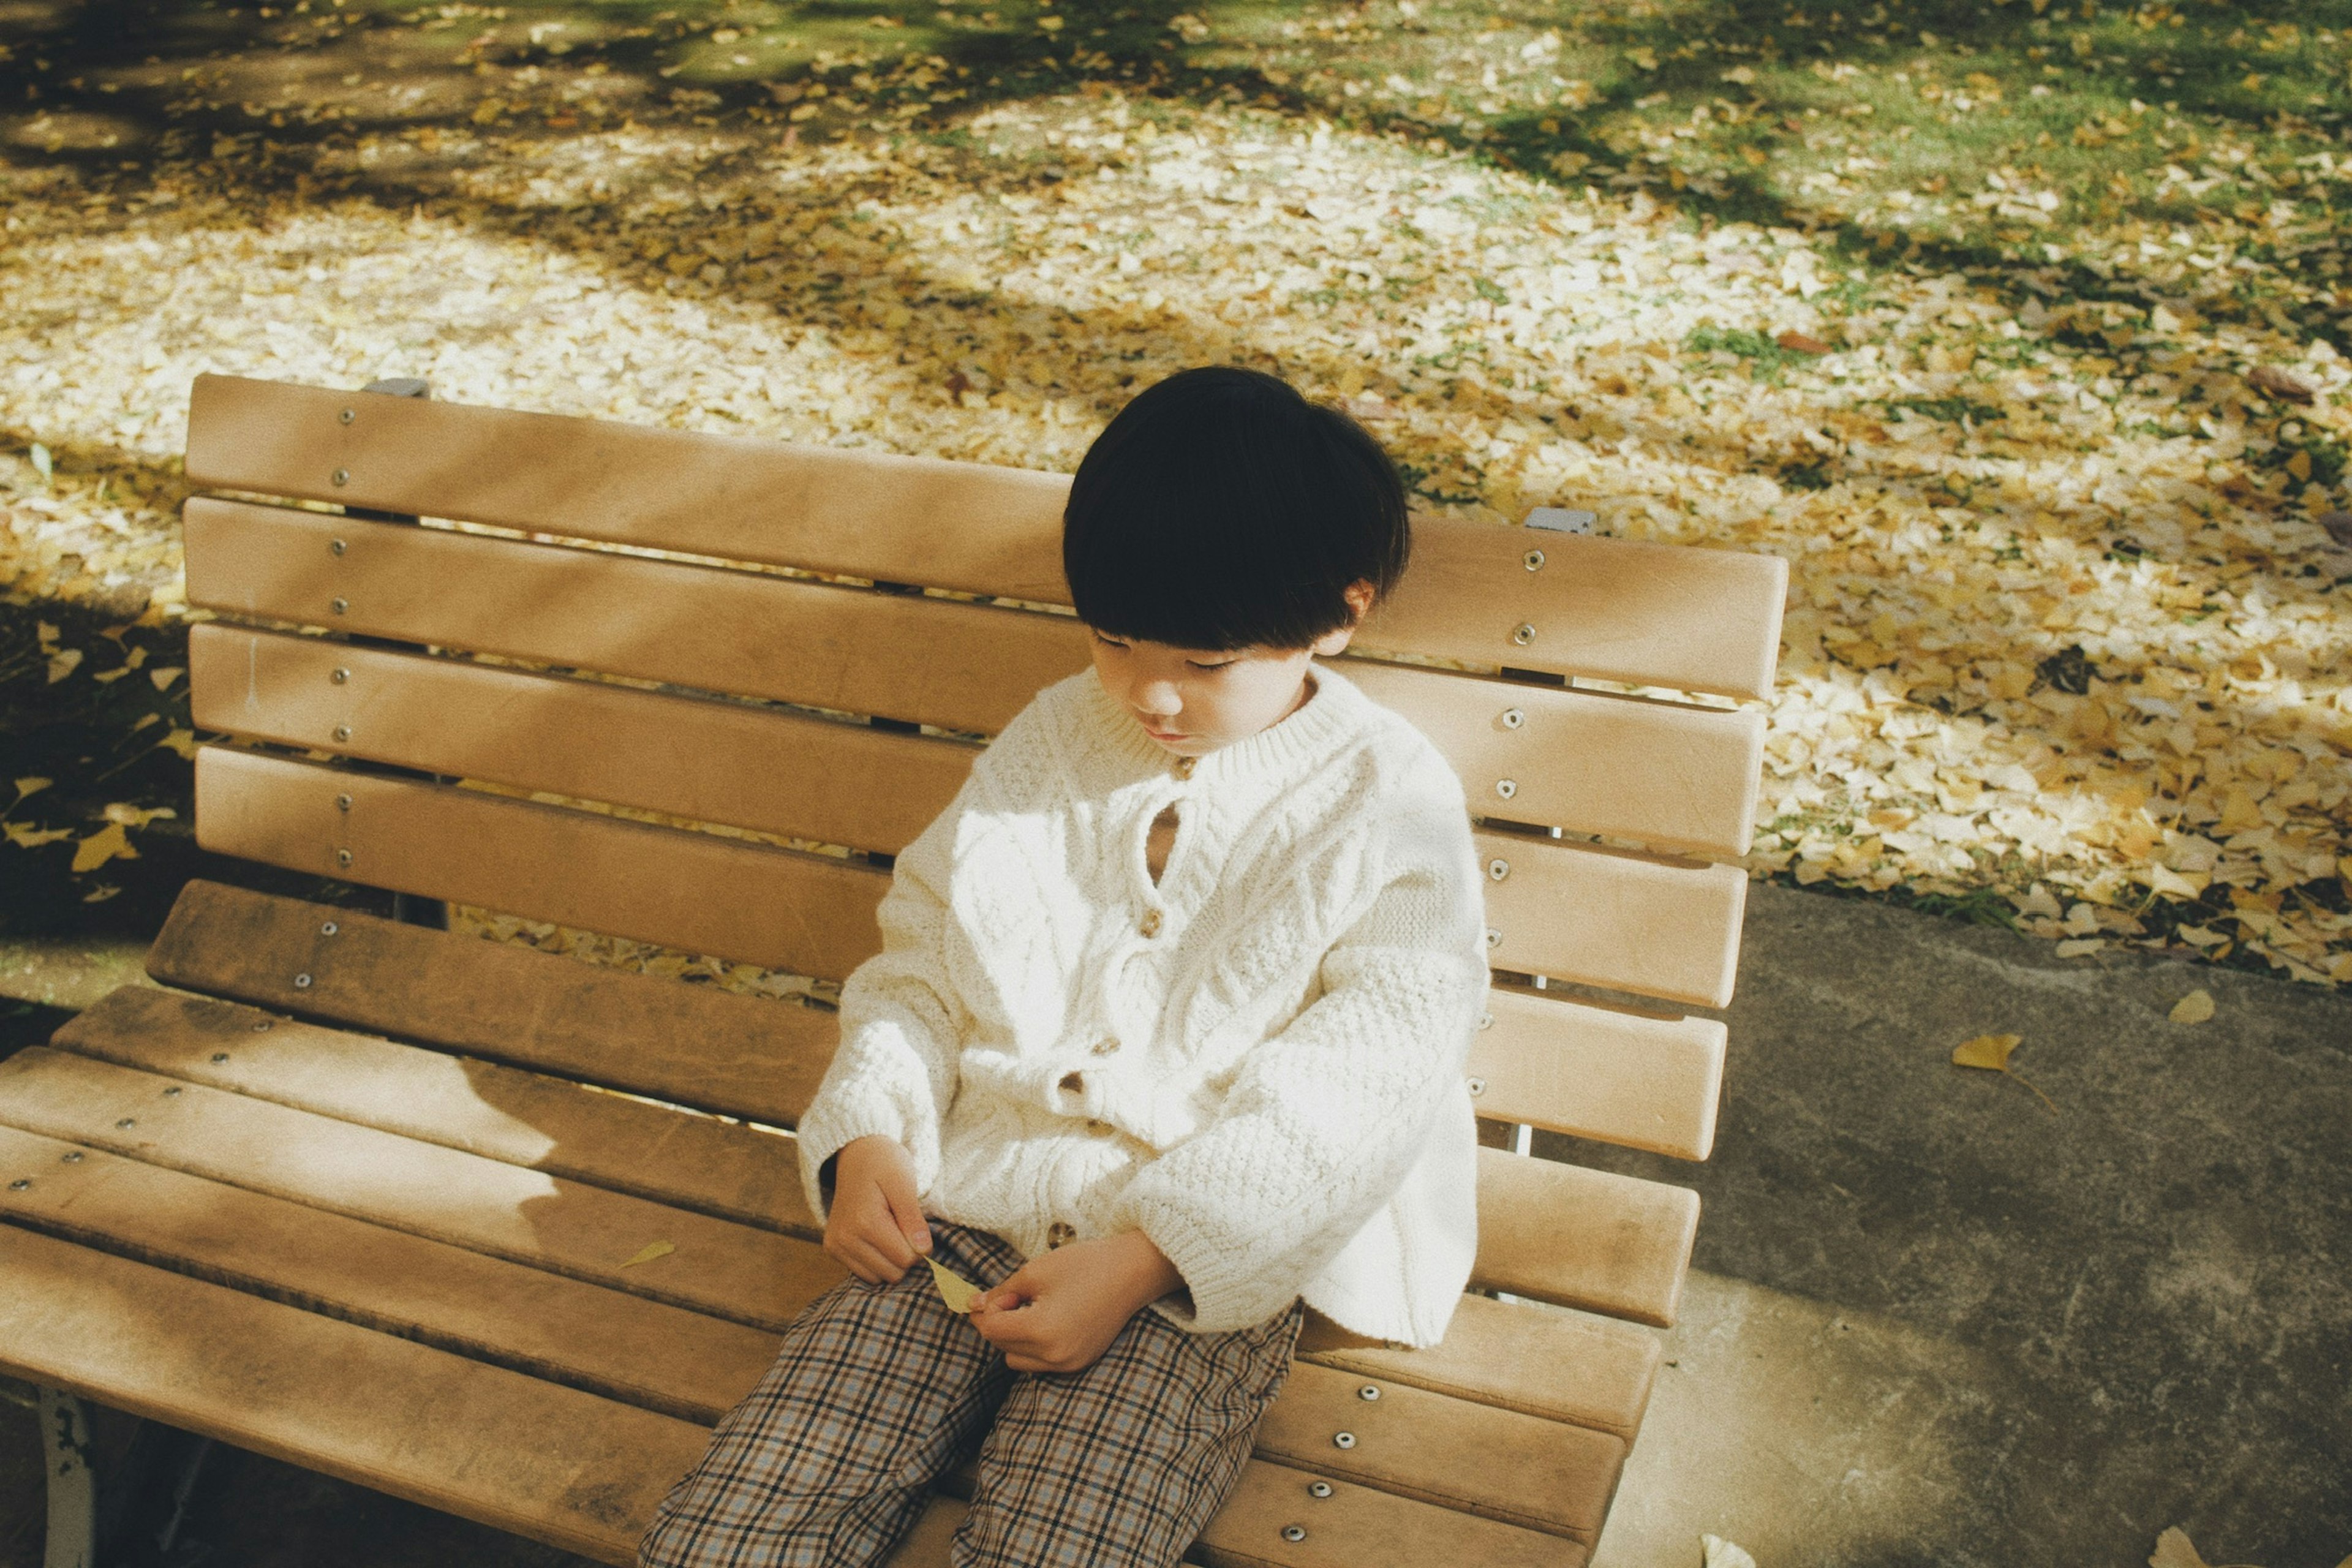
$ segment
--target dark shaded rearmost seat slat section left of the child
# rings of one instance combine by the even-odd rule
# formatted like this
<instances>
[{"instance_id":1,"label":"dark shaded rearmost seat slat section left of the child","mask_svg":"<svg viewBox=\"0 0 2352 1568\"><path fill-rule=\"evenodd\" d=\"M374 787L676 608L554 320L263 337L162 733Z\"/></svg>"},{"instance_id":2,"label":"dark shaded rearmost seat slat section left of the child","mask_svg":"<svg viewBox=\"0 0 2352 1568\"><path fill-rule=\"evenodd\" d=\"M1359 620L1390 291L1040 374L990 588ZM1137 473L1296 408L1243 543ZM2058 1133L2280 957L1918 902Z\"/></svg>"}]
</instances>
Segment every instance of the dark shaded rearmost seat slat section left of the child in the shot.
<instances>
[{"instance_id":1,"label":"dark shaded rearmost seat slat section left of the child","mask_svg":"<svg viewBox=\"0 0 2352 1568\"><path fill-rule=\"evenodd\" d=\"M165 985L776 1126L800 1119L840 1037L809 1006L202 879L181 889L146 966Z\"/></svg>"}]
</instances>

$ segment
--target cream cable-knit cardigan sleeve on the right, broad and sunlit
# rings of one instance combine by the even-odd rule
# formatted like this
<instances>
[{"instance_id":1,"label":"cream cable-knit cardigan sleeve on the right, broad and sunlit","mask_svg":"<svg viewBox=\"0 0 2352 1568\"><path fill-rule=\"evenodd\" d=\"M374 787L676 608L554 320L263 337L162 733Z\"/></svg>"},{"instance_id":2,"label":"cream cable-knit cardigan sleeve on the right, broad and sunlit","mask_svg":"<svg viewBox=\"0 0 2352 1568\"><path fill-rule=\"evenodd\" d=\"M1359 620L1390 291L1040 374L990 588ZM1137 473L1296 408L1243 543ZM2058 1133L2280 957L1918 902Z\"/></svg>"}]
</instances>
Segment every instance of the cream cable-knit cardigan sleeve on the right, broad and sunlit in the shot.
<instances>
[{"instance_id":1,"label":"cream cable-knit cardigan sleeve on the right, broad and sunlit","mask_svg":"<svg viewBox=\"0 0 2352 1568\"><path fill-rule=\"evenodd\" d=\"M1446 776L1451 785L1451 776ZM1197 1333L1282 1312L1421 1157L1486 992L1484 917L1458 785L1385 816L1369 910L1319 966L1322 994L1244 1058L1223 1107L1120 1194L1167 1253Z\"/></svg>"}]
</instances>

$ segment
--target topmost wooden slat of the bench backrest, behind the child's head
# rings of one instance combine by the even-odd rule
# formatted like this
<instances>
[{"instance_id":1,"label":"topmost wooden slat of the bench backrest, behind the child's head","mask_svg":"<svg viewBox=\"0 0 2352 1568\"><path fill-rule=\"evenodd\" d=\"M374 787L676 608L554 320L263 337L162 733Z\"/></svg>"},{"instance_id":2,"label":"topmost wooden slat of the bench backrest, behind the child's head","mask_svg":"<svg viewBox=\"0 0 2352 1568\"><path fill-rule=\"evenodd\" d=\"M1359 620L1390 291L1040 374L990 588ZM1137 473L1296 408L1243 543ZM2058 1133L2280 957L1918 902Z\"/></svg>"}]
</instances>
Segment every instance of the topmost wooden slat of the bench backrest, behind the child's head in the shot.
<instances>
[{"instance_id":1,"label":"topmost wooden slat of the bench backrest, behind the child's head","mask_svg":"<svg viewBox=\"0 0 2352 1568\"><path fill-rule=\"evenodd\" d=\"M341 421L353 409L353 421ZM343 484L334 475L343 475ZM198 376L198 484L1068 604L1068 480ZM1788 564L1425 517L1369 646L1766 696ZM1526 567L1526 550L1545 564ZM191 588L193 588L191 550ZM1531 625L1517 642L1512 630Z\"/></svg>"}]
</instances>

